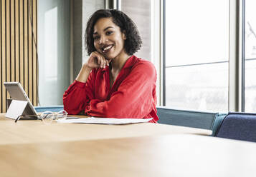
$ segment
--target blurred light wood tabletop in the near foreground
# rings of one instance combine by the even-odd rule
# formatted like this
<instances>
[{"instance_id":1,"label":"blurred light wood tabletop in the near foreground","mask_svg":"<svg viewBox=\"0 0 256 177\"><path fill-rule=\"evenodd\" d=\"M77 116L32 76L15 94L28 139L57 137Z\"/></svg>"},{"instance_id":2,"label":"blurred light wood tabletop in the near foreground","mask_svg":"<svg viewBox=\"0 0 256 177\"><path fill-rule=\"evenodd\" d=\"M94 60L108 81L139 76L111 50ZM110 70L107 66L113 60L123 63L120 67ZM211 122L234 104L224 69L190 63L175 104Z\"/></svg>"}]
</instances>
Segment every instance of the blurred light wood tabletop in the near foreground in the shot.
<instances>
[{"instance_id":1,"label":"blurred light wood tabletop in the near foreground","mask_svg":"<svg viewBox=\"0 0 256 177\"><path fill-rule=\"evenodd\" d=\"M0 176L256 176L256 143L171 134L0 146Z\"/></svg>"}]
</instances>

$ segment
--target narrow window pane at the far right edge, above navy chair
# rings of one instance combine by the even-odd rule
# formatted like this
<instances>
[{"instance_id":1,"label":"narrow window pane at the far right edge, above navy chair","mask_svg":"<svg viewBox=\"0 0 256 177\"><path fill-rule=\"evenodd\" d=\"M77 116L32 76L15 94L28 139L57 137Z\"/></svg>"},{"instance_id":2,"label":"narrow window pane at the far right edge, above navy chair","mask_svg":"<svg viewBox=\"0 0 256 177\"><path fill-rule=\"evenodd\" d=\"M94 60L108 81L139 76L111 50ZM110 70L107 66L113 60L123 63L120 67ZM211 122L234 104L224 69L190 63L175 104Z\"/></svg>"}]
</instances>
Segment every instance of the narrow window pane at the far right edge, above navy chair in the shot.
<instances>
[{"instance_id":1,"label":"narrow window pane at the far right edge, above navy chair","mask_svg":"<svg viewBox=\"0 0 256 177\"><path fill-rule=\"evenodd\" d=\"M245 1L245 111L256 111L256 1Z\"/></svg>"}]
</instances>

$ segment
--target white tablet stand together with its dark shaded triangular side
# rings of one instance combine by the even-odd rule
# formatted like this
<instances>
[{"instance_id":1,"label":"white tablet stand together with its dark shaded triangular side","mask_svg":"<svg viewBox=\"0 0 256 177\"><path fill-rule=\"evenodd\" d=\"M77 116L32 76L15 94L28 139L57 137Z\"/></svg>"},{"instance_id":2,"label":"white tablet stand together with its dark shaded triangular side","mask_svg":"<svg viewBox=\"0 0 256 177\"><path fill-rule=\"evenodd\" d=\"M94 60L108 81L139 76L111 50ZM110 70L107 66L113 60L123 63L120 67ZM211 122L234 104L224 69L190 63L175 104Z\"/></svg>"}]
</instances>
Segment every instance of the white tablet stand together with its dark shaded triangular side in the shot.
<instances>
[{"instance_id":1,"label":"white tablet stand together with its dark shaded triangular side","mask_svg":"<svg viewBox=\"0 0 256 177\"><path fill-rule=\"evenodd\" d=\"M23 115L33 115L33 111L29 107L28 101L19 101L19 100L12 100L9 108L5 116L7 118L16 119L19 116Z\"/></svg>"}]
</instances>

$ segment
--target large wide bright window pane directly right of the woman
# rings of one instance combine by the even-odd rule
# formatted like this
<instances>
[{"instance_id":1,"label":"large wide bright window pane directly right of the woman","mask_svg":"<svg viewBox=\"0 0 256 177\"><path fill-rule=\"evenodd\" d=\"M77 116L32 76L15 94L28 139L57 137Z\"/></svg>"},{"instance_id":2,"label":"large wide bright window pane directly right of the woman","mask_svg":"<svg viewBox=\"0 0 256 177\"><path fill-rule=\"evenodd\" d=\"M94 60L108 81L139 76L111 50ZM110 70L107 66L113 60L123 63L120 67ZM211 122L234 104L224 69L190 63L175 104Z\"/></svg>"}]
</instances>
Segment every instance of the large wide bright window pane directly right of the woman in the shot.
<instances>
[{"instance_id":1,"label":"large wide bright window pane directly right of the woman","mask_svg":"<svg viewBox=\"0 0 256 177\"><path fill-rule=\"evenodd\" d=\"M229 1L165 1L166 106L227 111Z\"/></svg>"}]
</instances>

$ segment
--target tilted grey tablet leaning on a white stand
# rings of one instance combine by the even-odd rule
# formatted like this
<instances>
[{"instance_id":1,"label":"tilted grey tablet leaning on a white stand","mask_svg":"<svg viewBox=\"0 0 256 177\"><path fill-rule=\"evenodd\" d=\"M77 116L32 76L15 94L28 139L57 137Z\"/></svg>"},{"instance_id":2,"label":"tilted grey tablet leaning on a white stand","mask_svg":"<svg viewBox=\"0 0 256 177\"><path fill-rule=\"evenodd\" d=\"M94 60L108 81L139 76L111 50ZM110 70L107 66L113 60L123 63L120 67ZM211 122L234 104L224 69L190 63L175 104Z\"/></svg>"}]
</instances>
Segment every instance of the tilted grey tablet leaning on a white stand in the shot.
<instances>
[{"instance_id":1,"label":"tilted grey tablet leaning on a white stand","mask_svg":"<svg viewBox=\"0 0 256 177\"><path fill-rule=\"evenodd\" d=\"M34 109L34 106L29 100L27 93L24 91L22 85L19 82L4 82L4 86L11 96L11 99L28 102L25 109L25 113L27 115L37 115L37 111Z\"/></svg>"}]
</instances>

